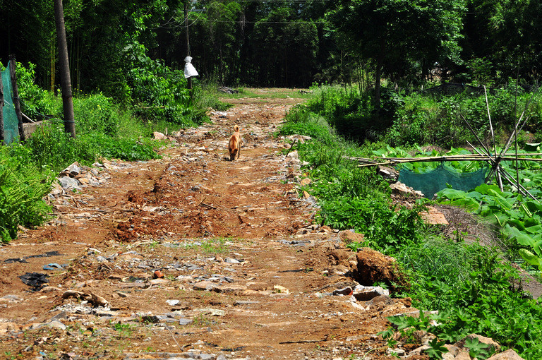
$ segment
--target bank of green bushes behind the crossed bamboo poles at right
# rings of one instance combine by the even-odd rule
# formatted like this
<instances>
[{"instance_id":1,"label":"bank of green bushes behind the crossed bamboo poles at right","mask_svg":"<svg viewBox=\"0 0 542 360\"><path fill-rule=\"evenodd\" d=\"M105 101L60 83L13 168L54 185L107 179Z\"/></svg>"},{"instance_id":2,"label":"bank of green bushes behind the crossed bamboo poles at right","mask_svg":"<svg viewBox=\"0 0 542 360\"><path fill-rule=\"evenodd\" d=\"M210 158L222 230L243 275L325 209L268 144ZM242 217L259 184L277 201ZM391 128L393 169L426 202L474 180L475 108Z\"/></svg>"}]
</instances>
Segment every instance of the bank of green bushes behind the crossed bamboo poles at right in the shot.
<instances>
[{"instance_id":1,"label":"bank of green bushes behind the crossed bamboo poles at right","mask_svg":"<svg viewBox=\"0 0 542 360\"><path fill-rule=\"evenodd\" d=\"M510 82L504 88L488 93L495 133L502 134L504 138L505 134L513 130L517 121L515 119L519 118L531 96L534 100L526 109L526 115L531 117L531 124L537 124L542 115L538 106L540 97L538 92L524 92L520 88L516 99L515 84ZM450 148L464 146L466 141L478 144L462 118L476 129L478 138L488 137L488 112L483 93L464 92L457 95L395 93L394 97L399 97L400 100L395 100L393 107L383 106L383 109L388 109L387 116L392 119L392 124L385 133L385 142L392 146L430 143ZM506 138L497 140L504 143Z\"/></svg>"}]
</instances>

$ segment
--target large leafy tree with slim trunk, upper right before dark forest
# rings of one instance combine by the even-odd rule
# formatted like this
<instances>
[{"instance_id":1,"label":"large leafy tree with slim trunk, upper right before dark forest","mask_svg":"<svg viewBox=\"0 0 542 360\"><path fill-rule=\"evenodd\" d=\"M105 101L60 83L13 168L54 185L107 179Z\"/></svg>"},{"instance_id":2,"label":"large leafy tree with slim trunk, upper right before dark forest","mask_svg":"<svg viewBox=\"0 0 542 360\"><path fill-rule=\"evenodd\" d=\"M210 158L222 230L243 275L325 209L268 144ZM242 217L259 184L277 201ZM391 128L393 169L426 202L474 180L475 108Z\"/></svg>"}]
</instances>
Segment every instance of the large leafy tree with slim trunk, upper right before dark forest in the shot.
<instances>
[{"instance_id":1,"label":"large leafy tree with slim trunk, upper right before dark forest","mask_svg":"<svg viewBox=\"0 0 542 360\"><path fill-rule=\"evenodd\" d=\"M414 62L459 59L464 0L342 0L329 18L347 47L375 66L375 107L383 72L401 74Z\"/></svg>"}]
</instances>

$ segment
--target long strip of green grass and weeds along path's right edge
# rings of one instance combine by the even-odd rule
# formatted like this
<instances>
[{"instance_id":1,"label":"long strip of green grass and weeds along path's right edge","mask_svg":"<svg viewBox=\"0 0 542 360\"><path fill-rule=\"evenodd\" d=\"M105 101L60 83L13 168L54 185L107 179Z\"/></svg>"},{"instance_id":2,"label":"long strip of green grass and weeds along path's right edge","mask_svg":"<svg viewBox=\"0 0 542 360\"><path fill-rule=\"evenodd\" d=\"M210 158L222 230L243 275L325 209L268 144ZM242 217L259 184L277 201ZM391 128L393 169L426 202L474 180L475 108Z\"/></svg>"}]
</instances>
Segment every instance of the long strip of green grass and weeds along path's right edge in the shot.
<instances>
[{"instance_id":1,"label":"long strip of green grass and weeds along path's right edge","mask_svg":"<svg viewBox=\"0 0 542 360\"><path fill-rule=\"evenodd\" d=\"M337 119L329 116L337 116L342 111L337 109L349 103L341 96L339 90L323 90L306 105L294 108L279 129L281 135L313 137L295 148L301 160L308 162L303 171L313 180L303 189L320 205L315 222L356 229L365 234L364 245L397 259L411 284L393 295L410 296L417 308L439 311L435 320L441 325L429 329L438 336L432 347L434 356L442 350L441 340L454 343L476 333L514 348L526 359L540 359L542 306L510 285L510 279L518 275L502 260L503 254L498 249L466 244L460 238L450 241L440 236L438 229L426 229L418 217L421 204L413 210L394 208L380 176L344 159L344 155L369 157L375 151L390 149L383 143L356 145L337 138L340 132L327 124L337 124ZM434 114L435 104L420 97L416 104L407 105L416 109L416 114ZM404 114L411 110L406 108ZM485 356L477 344L469 344L473 354Z\"/></svg>"}]
</instances>

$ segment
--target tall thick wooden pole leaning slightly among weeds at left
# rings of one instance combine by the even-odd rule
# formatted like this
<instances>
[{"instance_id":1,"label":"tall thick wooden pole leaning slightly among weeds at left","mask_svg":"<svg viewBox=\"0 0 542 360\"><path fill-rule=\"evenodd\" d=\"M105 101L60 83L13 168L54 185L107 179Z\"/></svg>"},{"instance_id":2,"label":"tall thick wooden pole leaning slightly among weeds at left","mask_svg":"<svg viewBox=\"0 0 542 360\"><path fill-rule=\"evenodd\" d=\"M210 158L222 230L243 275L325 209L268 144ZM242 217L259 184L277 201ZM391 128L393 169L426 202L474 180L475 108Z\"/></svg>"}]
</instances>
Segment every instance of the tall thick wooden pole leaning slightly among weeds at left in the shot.
<instances>
[{"instance_id":1,"label":"tall thick wooden pole leaning slightly among weeds at left","mask_svg":"<svg viewBox=\"0 0 542 360\"><path fill-rule=\"evenodd\" d=\"M76 121L73 115L73 97L71 93L70 62L68 59L68 42L64 26L64 8L62 0L54 0L54 18L56 37L59 42L60 83L62 87L62 107L64 109L64 131L76 137Z\"/></svg>"}]
</instances>

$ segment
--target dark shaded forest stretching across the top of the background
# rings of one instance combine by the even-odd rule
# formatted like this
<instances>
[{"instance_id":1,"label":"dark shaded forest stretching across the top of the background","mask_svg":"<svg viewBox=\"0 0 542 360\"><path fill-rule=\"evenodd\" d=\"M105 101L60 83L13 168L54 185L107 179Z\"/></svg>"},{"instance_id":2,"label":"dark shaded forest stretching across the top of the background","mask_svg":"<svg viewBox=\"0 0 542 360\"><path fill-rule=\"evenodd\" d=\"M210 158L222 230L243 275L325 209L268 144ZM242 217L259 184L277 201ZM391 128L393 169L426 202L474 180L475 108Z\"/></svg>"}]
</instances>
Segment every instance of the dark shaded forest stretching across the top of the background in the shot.
<instances>
[{"instance_id":1,"label":"dark shaded forest stretching across the top of the background","mask_svg":"<svg viewBox=\"0 0 542 360\"><path fill-rule=\"evenodd\" d=\"M135 68L159 61L224 85L307 87L375 78L498 85L540 76L541 1L65 0L74 90L131 97ZM58 88L52 0L0 0L0 59L35 64Z\"/></svg>"}]
</instances>

